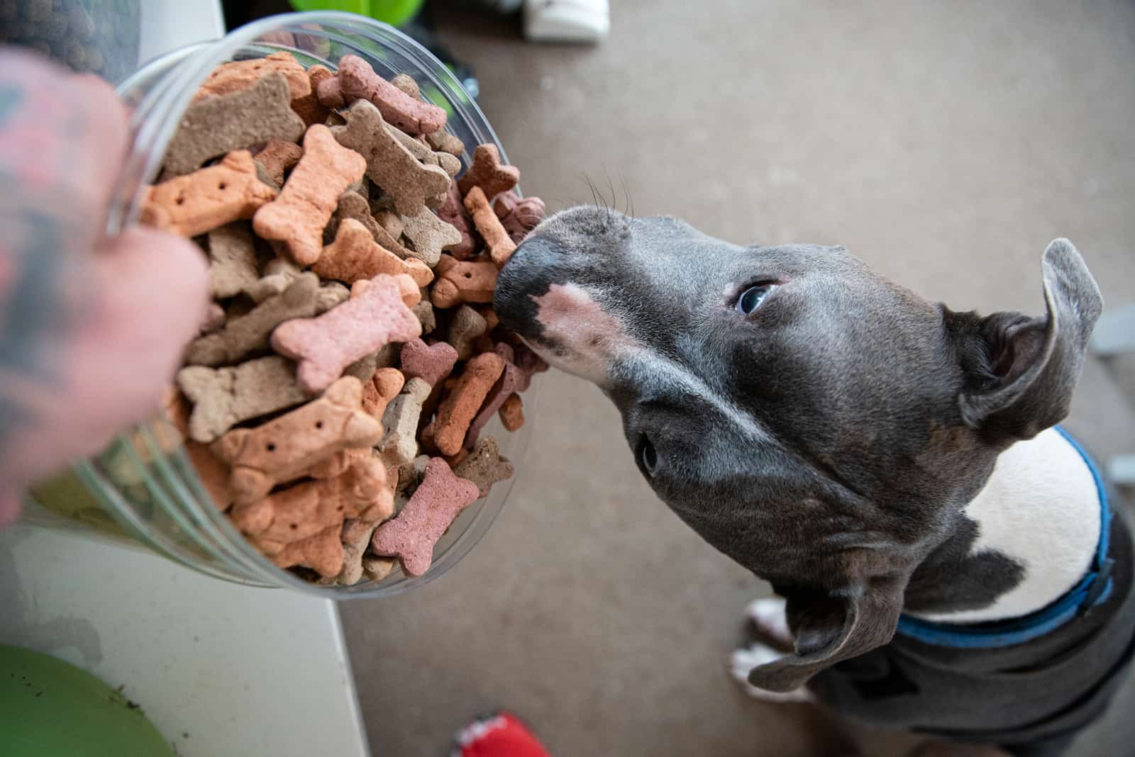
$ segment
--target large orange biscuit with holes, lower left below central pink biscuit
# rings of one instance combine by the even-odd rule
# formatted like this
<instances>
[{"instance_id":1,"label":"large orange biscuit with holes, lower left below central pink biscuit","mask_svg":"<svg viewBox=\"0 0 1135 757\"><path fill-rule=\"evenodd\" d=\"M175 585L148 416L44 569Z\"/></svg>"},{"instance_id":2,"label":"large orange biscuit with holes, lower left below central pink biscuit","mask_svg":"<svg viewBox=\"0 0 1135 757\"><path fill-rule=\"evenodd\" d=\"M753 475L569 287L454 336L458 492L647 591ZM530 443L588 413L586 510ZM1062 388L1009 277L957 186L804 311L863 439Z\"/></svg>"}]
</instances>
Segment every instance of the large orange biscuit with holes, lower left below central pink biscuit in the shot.
<instances>
[{"instance_id":1,"label":"large orange biscuit with holes, lower left below central pink biscuit","mask_svg":"<svg viewBox=\"0 0 1135 757\"><path fill-rule=\"evenodd\" d=\"M213 442L212 451L230 466L234 501L254 502L339 450L377 444L382 425L361 403L362 383L344 376L318 400L257 428L234 428Z\"/></svg>"}]
</instances>

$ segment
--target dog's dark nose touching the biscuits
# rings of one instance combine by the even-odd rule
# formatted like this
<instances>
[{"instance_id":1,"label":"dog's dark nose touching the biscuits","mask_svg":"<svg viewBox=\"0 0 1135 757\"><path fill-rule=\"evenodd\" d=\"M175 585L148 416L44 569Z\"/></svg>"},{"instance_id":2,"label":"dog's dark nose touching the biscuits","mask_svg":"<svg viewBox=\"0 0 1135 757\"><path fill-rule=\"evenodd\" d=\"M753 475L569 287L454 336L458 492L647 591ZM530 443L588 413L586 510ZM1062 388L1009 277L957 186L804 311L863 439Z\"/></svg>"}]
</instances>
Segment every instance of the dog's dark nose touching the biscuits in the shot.
<instances>
[{"instance_id":1,"label":"dog's dark nose touching the biscuits","mask_svg":"<svg viewBox=\"0 0 1135 757\"><path fill-rule=\"evenodd\" d=\"M563 253L560 245L546 237L529 237L501 269L493 308L501 322L523 337L539 331L533 297L548 291L553 283L564 283Z\"/></svg>"}]
</instances>

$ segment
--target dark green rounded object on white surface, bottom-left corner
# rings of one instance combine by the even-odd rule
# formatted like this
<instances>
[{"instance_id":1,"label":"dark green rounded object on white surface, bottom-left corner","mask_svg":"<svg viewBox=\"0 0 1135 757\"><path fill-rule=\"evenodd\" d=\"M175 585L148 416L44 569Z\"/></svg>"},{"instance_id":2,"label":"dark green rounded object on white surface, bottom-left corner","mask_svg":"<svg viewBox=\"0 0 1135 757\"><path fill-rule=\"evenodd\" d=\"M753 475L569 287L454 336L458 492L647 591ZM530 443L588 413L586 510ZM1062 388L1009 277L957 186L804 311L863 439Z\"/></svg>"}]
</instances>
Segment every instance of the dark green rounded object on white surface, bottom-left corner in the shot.
<instances>
[{"instance_id":1,"label":"dark green rounded object on white surface, bottom-left corner","mask_svg":"<svg viewBox=\"0 0 1135 757\"><path fill-rule=\"evenodd\" d=\"M50 655L0 645L0 755L175 757L142 709Z\"/></svg>"}]
</instances>

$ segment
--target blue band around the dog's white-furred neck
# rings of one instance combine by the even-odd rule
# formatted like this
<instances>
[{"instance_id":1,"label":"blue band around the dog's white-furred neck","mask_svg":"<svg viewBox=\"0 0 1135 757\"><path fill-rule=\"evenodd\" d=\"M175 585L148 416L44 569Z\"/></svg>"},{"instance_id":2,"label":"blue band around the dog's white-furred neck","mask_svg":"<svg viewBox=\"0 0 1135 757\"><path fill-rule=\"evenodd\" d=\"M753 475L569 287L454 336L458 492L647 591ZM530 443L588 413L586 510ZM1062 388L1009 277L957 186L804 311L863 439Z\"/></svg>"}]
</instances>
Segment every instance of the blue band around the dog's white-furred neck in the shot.
<instances>
[{"instance_id":1,"label":"blue band around the dog's white-furred neck","mask_svg":"<svg viewBox=\"0 0 1135 757\"><path fill-rule=\"evenodd\" d=\"M1108 541L1110 537L1111 508L1108 505L1108 492L1099 469L1084 448L1068 433L1057 426L1056 429L1084 459L1095 491L1100 497L1100 543L1095 550L1095 559L1087 573L1067 594L1036 612L989 623L935 623L907 614L899 616L898 633L923 644L935 647L955 647L958 649L992 649L1024 644L1044 636L1077 615L1102 604L1111 596L1111 559L1108 558Z\"/></svg>"}]
</instances>

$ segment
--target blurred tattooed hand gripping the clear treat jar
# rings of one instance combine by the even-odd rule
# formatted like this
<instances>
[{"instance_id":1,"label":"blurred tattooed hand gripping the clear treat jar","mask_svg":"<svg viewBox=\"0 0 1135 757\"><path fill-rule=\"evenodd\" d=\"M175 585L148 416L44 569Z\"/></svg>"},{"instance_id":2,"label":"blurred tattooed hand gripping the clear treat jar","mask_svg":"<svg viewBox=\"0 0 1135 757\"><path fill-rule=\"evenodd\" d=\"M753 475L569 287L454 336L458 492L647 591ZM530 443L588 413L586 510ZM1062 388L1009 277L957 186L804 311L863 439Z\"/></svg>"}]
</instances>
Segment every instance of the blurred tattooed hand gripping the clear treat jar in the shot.
<instances>
[{"instance_id":1,"label":"blurred tattooed hand gripping the clear treat jar","mask_svg":"<svg viewBox=\"0 0 1135 757\"><path fill-rule=\"evenodd\" d=\"M0 525L158 407L204 314L192 244L101 239L126 139L106 84L0 48Z\"/></svg>"}]
</instances>

